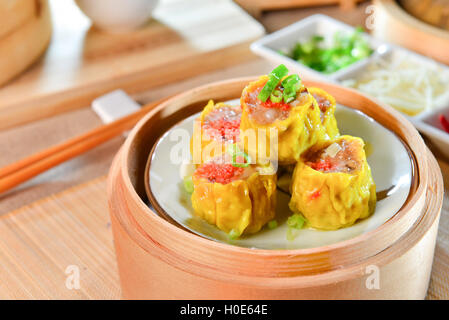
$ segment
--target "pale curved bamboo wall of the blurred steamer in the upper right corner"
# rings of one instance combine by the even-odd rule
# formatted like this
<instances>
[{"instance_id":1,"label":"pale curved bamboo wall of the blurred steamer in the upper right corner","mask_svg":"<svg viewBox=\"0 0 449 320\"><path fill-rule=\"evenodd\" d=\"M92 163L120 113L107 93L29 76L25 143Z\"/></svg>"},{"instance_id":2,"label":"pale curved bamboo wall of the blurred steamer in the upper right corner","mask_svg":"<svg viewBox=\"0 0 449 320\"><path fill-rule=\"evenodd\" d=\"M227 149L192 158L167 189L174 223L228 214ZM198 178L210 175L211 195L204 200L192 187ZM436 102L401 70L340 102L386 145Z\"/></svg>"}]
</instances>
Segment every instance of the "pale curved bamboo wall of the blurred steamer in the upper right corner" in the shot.
<instances>
[{"instance_id":1,"label":"pale curved bamboo wall of the blurred steamer in the upper right corner","mask_svg":"<svg viewBox=\"0 0 449 320\"><path fill-rule=\"evenodd\" d=\"M449 64L449 31L413 17L394 0L374 0L374 5L375 36Z\"/></svg>"}]
</instances>

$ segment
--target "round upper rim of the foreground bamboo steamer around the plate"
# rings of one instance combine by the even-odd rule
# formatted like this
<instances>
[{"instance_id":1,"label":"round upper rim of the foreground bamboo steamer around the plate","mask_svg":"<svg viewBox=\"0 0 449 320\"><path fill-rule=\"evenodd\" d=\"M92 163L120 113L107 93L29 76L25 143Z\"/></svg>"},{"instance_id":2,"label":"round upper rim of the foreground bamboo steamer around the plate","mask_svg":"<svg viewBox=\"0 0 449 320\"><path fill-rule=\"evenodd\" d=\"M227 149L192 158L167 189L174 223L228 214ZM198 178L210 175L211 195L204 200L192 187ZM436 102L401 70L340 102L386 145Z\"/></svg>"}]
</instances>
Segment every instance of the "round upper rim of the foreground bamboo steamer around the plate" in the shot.
<instances>
[{"instance_id":1,"label":"round upper rim of the foreground bamboo steamer around the plate","mask_svg":"<svg viewBox=\"0 0 449 320\"><path fill-rule=\"evenodd\" d=\"M357 98L359 105L355 109L363 109L364 104L375 105L375 109L382 111L381 113L375 115L375 110L372 110L371 114L370 112L365 113L407 142L411 155L417 164L418 169L415 175L418 185L416 190L411 191L407 203L391 219L373 231L328 246L296 250L263 250L241 248L199 237L172 225L157 213L151 211L137 194L128 174L130 150L133 148L134 139L142 127L159 113L165 111L168 113L170 109L205 100L204 98L198 99L197 96L211 97L214 94L216 95L216 88L222 89L227 94L238 92L251 80L254 80L254 77L226 80L179 94L147 114L131 131L116 159L117 166L120 168L119 179L123 185L111 186L109 194L112 194L116 189L116 192L124 196L125 201L121 204L121 209L125 210L132 220L132 225L128 225L126 230L143 249L150 254L158 254L161 259L171 261L181 268L183 263L188 263L190 272L193 272L192 268L206 267L220 273L223 272L223 266L226 265L223 276L233 273L246 274L252 277L291 277L329 272L343 266L360 263L360 261L371 258L392 246L416 223L418 217L422 214L420 209L425 205L429 178L428 151L416 129L396 110L375 102L355 90L309 81L306 81L307 85L322 87L344 105L351 105L351 103L348 103L349 100ZM349 95L349 97L346 95ZM392 120L396 120L396 122ZM139 215L138 212L144 214ZM145 241L148 242L145 243ZM157 246L154 247L156 242ZM156 249L162 251L157 252ZM179 260L178 262L174 259L175 256ZM211 259L212 256L213 259ZM229 257L232 257L232 261L229 261ZM250 265L260 266L248 270L247 267Z\"/></svg>"}]
</instances>

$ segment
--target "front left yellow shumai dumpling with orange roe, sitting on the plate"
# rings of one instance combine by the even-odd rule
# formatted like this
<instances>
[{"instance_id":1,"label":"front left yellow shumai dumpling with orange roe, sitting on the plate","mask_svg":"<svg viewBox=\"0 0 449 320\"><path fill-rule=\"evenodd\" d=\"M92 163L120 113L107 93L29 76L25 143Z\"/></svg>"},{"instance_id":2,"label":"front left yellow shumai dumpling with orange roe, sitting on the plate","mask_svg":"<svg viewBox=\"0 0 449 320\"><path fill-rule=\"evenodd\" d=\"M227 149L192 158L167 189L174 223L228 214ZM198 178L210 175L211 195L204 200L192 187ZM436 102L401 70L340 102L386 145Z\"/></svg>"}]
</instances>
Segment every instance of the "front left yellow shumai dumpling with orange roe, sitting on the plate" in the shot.
<instances>
[{"instance_id":1,"label":"front left yellow shumai dumpling with orange roe, sitting on the plate","mask_svg":"<svg viewBox=\"0 0 449 320\"><path fill-rule=\"evenodd\" d=\"M275 216L276 174L212 159L192 176L194 214L235 236L255 233Z\"/></svg>"}]
</instances>

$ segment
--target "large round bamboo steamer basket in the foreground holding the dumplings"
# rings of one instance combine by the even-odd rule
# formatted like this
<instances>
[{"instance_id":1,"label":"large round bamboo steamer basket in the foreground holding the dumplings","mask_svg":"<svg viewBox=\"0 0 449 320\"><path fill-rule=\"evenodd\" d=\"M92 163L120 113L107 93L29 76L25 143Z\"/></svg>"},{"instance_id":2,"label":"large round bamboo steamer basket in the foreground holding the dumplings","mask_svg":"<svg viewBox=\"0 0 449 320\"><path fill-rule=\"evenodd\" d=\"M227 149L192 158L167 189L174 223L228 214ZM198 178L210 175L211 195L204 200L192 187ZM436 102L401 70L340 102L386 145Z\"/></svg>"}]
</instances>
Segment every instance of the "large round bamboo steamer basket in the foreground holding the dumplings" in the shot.
<instances>
[{"instance_id":1,"label":"large round bamboo steamer basket in the foreground holding the dumplings","mask_svg":"<svg viewBox=\"0 0 449 320\"><path fill-rule=\"evenodd\" d=\"M213 83L162 103L136 125L116 155L108 201L123 298L423 299L442 206L441 172L402 115L354 90L306 82L373 117L408 147L415 166L410 195L381 227L318 248L248 249L197 236L147 206L145 165L159 136L208 99L239 97L251 80ZM379 272L378 289L367 285L373 268Z\"/></svg>"}]
</instances>

